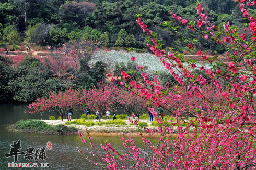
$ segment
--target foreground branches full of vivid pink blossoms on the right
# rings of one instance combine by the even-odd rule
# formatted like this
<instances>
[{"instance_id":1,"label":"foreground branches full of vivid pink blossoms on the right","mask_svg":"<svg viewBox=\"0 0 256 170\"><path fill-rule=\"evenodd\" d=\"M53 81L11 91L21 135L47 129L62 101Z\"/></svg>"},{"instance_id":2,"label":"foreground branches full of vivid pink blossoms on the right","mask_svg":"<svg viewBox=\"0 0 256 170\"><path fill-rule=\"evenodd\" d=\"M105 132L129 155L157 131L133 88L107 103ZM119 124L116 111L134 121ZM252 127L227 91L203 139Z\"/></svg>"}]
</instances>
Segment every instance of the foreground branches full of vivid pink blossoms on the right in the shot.
<instances>
[{"instance_id":1,"label":"foreground branches full of vivid pink blossoms on the right","mask_svg":"<svg viewBox=\"0 0 256 170\"><path fill-rule=\"evenodd\" d=\"M253 14L249 14L246 6L255 5L255 1L235 0L240 3L241 14L247 23L242 25L230 25L228 21L220 25L213 25L207 20L200 2L197 2L197 22L187 21L177 14L172 14L180 25L191 31L201 34L206 40L222 45L226 49L224 56L227 62L218 61L220 56L207 57L204 51L195 50L195 41L189 37L182 37L177 27L172 22L164 22L172 33L181 37L182 43L193 50L198 57L205 61L200 70L205 71L211 78L207 81L201 74L193 74L192 71L199 67L199 61L184 58L182 53L173 51L173 48L163 48L163 44L157 38L157 34L147 29L147 25L137 14L137 23L141 29L152 38L152 44L147 44L163 66L180 83L183 91L168 94L168 89L159 85L157 76L154 81L149 81L144 73L144 81L153 90L145 90L147 86L137 87L137 83L122 73L124 81L121 85L130 86L131 93L140 96L155 106L163 104L165 110L171 112L177 119L186 121L181 126L176 126L168 120L160 120L154 109L150 109L158 122L160 142L154 144L145 139L145 149L138 148L132 137L125 140L123 145L127 151L121 153L104 143L101 148L106 155L98 156L108 169L255 169L256 168L256 117L255 97L256 91L256 22ZM251 36L241 33L246 31L249 25ZM136 62L136 58L131 56ZM139 68L143 72L143 67ZM226 86L220 83L227 81ZM187 83L185 83L187 82ZM211 84L211 85L210 85ZM127 88L129 89L129 88ZM139 93L132 89L139 89ZM168 91L167 91L168 90ZM178 105L176 102L180 102ZM176 104L173 104L176 103ZM192 103L192 104L191 104ZM177 106L178 105L178 106ZM170 109L171 108L171 109ZM182 116L186 115L186 116ZM137 124L137 121L134 122ZM152 129L144 127L149 133ZM174 131L175 130L175 131ZM177 132L177 137L171 137ZM81 136L82 134L80 134ZM88 134L89 135L89 134ZM89 136L89 139L91 137ZM83 140L82 140L83 141ZM94 145L91 143L91 147ZM79 152L83 152L79 150ZM85 152L83 152L85 153ZM91 151L87 155L95 155ZM98 164L97 162L94 162Z\"/></svg>"}]
</instances>

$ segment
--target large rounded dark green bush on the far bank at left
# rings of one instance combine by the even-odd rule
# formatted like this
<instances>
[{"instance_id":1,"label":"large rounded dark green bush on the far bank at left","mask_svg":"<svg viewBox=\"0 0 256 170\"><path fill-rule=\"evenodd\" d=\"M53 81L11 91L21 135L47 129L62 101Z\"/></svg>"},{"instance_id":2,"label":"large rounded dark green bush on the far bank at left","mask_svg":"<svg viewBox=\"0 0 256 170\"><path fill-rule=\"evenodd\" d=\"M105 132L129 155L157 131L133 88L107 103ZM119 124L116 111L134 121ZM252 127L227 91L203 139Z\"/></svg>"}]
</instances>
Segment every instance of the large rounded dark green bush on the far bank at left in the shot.
<instances>
[{"instance_id":1,"label":"large rounded dark green bush on the far bank at left","mask_svg":"<svg viewBox=\"0 0 256 170\"><path fill-rule=\"evenodd\" d=\"M60 82L51 77L51 71L38 59L25 57L19 63L17 72L11 75L8 88L15 100L31 102L39 97L48 96L50 91L60 89Z\"/></svg>"}]
</instances>

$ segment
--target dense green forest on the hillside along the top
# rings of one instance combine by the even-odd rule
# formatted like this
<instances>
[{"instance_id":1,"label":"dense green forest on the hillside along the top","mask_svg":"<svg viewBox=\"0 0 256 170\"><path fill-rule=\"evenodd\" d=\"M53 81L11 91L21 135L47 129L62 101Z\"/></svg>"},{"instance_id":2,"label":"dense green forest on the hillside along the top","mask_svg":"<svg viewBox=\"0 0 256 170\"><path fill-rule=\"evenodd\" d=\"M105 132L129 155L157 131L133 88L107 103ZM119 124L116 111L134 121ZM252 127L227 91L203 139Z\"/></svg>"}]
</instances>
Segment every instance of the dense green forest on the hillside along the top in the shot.
<instances>
[{"instance_id":1,"label":"dense green forest on the hillside along the top","mask_svg":"<svg viewBox=\"0 0 256 170\"><path fill-rule=\"evenodd\" d=\"M22 45L52 45L85 38L101 42L106 47L134 47L145 51L149 38L139 29L135 13L142 13L149 29L158 33L160 40L168 47L182 48L181 41L161 27L163 21L174 20L170 12L182 18L195 20L194 3L180 0L160 1L56 1L56 0L1 0L0 1L0 38L1 47L11 45L11 49ZM231 0L206 0L202 2L205 13L214 24L230 20L231 24L245 22L239 11L238 3ZM250 14L255 9L248 10ZM223 17L230 14L228 17ZM239 16L239 17L238 17ZM198 38L196 33L184 27L179 28L184 36ZM26 31L25 31L26 30ZM171 38L170 38L171 37ZM21 46L22 46L21 45ZM223 48L200 39L200 49L212 54L223 53Z\"/></svg>"}]
</instances>

